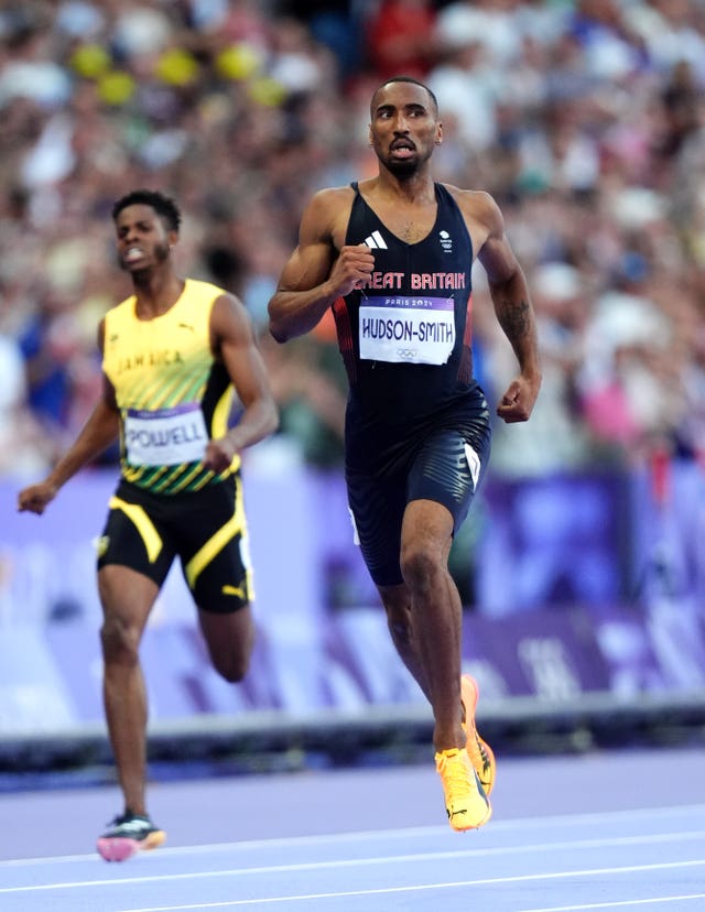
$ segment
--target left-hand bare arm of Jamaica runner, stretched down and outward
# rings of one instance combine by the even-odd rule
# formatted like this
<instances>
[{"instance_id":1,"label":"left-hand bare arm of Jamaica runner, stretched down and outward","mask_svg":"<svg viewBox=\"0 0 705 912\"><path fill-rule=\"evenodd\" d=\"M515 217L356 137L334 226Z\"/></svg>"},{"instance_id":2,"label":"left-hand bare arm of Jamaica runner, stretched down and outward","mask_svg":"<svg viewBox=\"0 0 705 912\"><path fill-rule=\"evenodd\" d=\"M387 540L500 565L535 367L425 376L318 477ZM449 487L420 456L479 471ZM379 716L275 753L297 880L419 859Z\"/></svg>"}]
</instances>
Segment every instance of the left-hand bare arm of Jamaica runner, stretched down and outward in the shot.
<instances>
[{"instance_id":1,"label":"left-hand bare arm of Jamaica runner, stretched down and outward","mask_svg":"<svg viewBox=\"0 0 705 912\"><path fill-rule=\"evenodd\" d=\"M105 324L98 327L98 345L102 351ZM102 374L102 395L96 403L78 436L43 481L30 485L18 496L20 512L43 513L47 504L56 497L58 489L73 478L84 466L91 463L110 444L118 439L120 433L120 412L115 401L112 384Z\"/></svg>"}]
</instances>

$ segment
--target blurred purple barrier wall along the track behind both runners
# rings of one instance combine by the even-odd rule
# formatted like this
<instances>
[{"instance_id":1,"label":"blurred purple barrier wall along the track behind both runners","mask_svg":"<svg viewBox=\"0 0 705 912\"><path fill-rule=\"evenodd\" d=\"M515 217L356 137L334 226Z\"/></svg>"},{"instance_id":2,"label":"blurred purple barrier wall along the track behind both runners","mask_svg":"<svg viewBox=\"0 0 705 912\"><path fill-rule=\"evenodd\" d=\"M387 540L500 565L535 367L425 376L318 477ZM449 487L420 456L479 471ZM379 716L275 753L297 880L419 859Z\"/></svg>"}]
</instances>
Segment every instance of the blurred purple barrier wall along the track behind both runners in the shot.
<instances>
[{"instance_id":1,"label":"blurred purple barrier wall along the track behind both runners","mask_svg":"<svg viewBox=\"0 0 705 912\"><path fill-rule=\"evenodd\" d=\"M0 737L102 720L93 543L115 480L84 473L41 518L19 514L18 486L0 484ZM152 720L423 706L351 543L341 478L252 463L245 486L259 634L251 672L231 686L212 671L175 568L143 642ZM675 466L661 499L640 475L490 478L473 522L454 565L473 593L464 661L486 698L560 704L705 687L705 484L695 466Z\"/></svg>"}]
</instances>

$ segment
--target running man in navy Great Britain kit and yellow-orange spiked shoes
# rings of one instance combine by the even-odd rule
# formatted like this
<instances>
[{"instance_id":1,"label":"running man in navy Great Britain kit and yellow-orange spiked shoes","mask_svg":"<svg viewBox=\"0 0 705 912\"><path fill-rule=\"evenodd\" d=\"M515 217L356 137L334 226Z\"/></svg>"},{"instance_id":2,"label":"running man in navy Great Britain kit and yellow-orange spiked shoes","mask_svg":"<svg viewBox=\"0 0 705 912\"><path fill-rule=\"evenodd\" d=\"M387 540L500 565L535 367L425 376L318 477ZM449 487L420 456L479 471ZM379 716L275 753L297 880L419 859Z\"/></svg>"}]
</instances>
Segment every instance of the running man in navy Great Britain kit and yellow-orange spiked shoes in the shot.
<instances>
[{"instance_id":1,"label":"running man in navy Great Britain kit and yellow-orange spiked shoes","mask_svg":"<svg viewBox=\"0 0 705 912\"><path fill-rule=\"evenodd\" d=\"M453 536L487 468L490 414L473 379L473 260L487 272L519 371L497 408L527 421L541 386L523 272L486 193L435 183L436 99L394 77L370 106L375 177L319 191L269 304L283 343L333 307L349 395L348 501L394 645L429 698L448 821L490 815L495 758L475 726L477 686L462 675L462 605L448 572Z\"/></svg>"}]
</instances>

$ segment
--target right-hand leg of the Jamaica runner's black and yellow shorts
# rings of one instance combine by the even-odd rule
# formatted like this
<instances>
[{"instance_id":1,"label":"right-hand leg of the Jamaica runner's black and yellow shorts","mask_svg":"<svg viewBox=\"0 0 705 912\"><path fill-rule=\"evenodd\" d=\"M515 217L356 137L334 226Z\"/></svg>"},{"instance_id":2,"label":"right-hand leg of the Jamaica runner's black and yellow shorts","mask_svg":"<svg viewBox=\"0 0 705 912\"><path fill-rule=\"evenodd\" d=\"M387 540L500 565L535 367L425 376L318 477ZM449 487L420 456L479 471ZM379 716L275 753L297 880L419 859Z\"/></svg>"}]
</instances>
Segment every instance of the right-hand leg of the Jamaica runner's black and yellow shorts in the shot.
<instances>
[{"instance_id":1,"label":"right-hand leg of the Jamaica runner's black and yellow shorts","mask_svg":"<svg viewBox=\"0 0 705 912\"><path fill-rule=\"evenodd\" d=\"M199 610L237 611L254 597L240 475L189 498L177 545L186 585Z\"/></svg>"}]
</instances>

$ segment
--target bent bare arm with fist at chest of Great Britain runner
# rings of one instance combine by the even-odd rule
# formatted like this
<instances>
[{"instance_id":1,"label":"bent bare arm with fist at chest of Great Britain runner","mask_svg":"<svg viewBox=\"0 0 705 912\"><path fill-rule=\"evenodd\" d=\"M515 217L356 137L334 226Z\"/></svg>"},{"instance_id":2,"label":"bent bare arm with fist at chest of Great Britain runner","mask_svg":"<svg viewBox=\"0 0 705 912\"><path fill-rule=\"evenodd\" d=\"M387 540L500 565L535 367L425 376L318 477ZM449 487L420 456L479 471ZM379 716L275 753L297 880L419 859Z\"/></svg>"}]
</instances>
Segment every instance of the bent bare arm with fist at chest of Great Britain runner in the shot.
<instances>
[{"instance_id":1,"label":"bent bare arm with fist at chest of Great Britain runner","mask_svg":"<svg viewBox=\"0 0 705 912\"><path fill-rule=\"evenodd\" d=\"M354 191L318 191L304 210L299 245L269 302L269 327L276 341L308 333L341 295L369 279L375 258L366 245L344 243Z\"/></svg>"}]
</instances>

